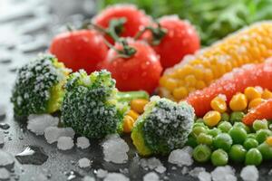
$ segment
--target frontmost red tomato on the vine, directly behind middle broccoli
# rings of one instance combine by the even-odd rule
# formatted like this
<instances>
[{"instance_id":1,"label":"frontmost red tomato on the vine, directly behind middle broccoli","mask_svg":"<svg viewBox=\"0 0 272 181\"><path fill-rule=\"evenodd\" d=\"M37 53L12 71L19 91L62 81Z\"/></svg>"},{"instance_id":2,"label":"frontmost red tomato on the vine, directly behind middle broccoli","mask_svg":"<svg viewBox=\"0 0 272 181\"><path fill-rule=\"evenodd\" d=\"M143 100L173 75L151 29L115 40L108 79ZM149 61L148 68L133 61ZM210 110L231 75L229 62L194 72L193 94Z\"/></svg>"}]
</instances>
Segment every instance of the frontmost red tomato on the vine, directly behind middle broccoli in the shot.
<instances>
[{"instance_id":1,"label":"frontmost red tomato on the vine, directly behind middle broccoli","mask_svg":"<svg viewBox=\"0 0 272 181\"><path fill-rule=\"evenodd\" d=\"M119 90L146 90L152 93L160 80L160 59L147 43L131 39L128 43L136 50L135 54L130 58L121 58L118 52L110 49L101 68L112 72ZM118 43L114 47L121 50Z\"/></svg>"}]
</instances>

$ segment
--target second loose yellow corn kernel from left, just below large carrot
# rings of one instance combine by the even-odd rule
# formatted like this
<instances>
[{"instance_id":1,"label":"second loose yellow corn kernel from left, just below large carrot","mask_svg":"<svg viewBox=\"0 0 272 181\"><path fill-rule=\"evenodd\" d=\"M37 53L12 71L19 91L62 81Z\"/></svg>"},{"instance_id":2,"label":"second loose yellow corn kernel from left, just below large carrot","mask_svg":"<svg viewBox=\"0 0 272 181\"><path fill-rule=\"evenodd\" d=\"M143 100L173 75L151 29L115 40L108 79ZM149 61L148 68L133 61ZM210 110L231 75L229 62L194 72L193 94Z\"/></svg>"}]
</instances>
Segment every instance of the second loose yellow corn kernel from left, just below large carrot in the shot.
<instances>
[{"instance_id":1,"label":"second loose yellow corn kernel from left, just below large carrot","mask_svg":"<svg viewBox=\"0 0 272 181\"><path fill-rule=\"evenodd\" d=\"M248 107L248 100L245 94L238 93L234 95L229 101L229 108L233 111L246 110Z\"/></svg>"}]
</instances>

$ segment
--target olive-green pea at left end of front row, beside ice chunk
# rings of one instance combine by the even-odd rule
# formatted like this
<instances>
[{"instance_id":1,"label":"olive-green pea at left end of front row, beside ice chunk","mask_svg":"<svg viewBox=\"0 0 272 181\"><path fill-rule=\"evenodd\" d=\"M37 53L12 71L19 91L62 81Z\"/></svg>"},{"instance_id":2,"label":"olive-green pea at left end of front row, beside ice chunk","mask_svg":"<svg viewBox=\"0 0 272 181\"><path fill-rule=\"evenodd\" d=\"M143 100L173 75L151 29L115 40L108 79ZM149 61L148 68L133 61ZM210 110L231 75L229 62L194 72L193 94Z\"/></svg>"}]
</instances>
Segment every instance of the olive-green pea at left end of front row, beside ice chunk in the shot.
<instances>
[{"instance_id":1,"label":"olive-green pea at left end of front row, beside ice chunk","mask_svg":"<svg viewBox=\"0 0 272 181\"><path fill-rule=\"evenodd\" d=\"M192 156L200 163L207 162L211 155L211 150L207 145L199 145L194 148Z\"/></svg>"}]
</instances>

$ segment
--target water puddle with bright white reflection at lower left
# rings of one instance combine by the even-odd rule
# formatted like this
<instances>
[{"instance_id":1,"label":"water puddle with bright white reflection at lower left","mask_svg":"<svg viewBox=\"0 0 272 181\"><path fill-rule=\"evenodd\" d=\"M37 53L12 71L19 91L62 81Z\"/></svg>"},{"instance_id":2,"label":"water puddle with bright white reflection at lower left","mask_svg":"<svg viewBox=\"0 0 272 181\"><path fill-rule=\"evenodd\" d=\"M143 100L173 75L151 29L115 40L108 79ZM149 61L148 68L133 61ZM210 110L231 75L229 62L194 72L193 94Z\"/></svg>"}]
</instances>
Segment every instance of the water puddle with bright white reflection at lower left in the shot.
<instances>
[{"instance_id":1,"label":"water puddle with bright white reflection at lower left","mask_svg":"<svg viewBox=\"0 0 272 181\"><path fill-rule=\"evenodd\" d=\"M15 157L21 164L31 165L42 165L48 158L44 149L37 146L24 146L24 151Z\"/></svg>"}]
</instances>

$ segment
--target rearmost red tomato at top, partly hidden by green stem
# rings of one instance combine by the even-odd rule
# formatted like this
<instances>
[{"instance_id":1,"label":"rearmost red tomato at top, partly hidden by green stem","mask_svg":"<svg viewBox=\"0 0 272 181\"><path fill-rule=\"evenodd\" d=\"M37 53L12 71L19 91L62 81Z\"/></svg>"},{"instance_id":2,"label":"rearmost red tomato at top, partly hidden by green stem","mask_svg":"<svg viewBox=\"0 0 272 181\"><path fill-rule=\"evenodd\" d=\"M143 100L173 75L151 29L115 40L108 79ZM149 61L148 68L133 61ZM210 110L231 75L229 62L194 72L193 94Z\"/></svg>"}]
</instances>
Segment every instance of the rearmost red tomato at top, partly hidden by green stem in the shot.
<instances>
[{"instance_id":1,"label":"rearmost red tomato at top, partly hidden by green stem","mask_svg":"<svg viewBox=\"0 0 272 181\"><path fill-rule=\"evenodd\" d=\"M151 18L134 5L112 5L96 15L92 21L94 24L108 28L114 18L126 18L123 31L119 34L121 37L133 37L142 27L151 24ZM106 39L113 43L109 36L106 36Z\"/></svg>"}]
</instances>

